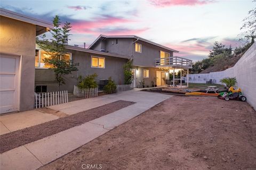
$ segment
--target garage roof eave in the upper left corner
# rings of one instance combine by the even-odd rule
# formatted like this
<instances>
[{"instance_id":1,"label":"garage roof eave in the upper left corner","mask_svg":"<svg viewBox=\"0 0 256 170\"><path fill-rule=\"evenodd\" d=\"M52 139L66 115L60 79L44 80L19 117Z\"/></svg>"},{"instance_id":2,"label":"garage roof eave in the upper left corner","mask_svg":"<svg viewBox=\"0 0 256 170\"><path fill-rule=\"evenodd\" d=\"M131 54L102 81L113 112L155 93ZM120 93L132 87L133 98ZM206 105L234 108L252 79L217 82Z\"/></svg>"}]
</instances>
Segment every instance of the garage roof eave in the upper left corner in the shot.
<instances>
[{"instance_id":1,"label":"garage roof eave in the upper left corner","mask_svg":"<svg viewBox=\"0 0 256 170\"><path fill-rule=\"evenodd\" d=\"M17 12L9 11L4 8L0 8L0 15L5 16L7 18L12 18L15 20L27 22L36 25L36 36L41 35L47 30L53 28L52 23L46 22L43 20L39 20L36 18L32 18L30 16L26 16Z\"/></svg>"}]
</instances>

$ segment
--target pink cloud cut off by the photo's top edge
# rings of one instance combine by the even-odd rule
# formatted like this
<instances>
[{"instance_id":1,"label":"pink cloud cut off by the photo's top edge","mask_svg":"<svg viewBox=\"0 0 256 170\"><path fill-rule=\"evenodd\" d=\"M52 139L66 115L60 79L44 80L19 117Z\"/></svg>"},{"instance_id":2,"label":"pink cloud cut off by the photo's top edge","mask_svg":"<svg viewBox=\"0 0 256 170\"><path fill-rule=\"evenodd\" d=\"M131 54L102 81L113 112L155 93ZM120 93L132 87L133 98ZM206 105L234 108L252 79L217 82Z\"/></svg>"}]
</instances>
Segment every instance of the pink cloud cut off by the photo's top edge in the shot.
<instances>
[{"instance_id":1,"label":"pink cloud cut off by the photo's top edge","mask_svg":"<svg viewBox=\"0 0 256 170\"><path fill-rule=\"evenodd\" d=\"M214 0L148 0L150 4L157 7L175 6L175 5L204 5L214 2Z\"/></svg>"}]
</instances>

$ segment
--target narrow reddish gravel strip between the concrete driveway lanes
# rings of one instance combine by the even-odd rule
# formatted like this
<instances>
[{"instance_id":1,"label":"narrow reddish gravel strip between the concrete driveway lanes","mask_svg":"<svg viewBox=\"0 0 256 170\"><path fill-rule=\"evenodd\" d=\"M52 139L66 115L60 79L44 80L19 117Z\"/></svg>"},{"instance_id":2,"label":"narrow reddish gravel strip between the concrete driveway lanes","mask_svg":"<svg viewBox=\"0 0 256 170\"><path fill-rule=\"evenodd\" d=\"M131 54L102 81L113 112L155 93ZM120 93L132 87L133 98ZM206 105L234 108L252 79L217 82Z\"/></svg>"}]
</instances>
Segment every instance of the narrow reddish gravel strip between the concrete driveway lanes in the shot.
<instances>
[{"instance_id":1,"label":"narrow reddish gravel strip between the concrete driveway lanes","mask_svg":"<svg viewBox=\"0 0 256 170\"><path fill-rule=\"evenodd\" d=\"M19 146L26 145L27 143L73 128L74 126L78 126L85 122L94 120L95 118L113 113L132 104L134 104L132 101L118 100L81 113L61 117L57 120L3 134L0 136L0 152L2 154L3 152L13 148L17 148Z\"/></svg>"}]
</instances>

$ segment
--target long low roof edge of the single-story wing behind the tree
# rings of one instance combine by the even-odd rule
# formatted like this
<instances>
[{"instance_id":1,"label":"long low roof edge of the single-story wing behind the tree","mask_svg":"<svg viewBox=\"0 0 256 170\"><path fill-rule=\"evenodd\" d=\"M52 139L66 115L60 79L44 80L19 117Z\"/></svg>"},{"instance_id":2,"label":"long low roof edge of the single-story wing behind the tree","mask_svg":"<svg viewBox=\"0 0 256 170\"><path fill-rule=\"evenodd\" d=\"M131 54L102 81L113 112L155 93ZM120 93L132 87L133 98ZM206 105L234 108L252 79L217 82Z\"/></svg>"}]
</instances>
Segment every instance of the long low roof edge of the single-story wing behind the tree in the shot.
<instances>
[{"instance_id":1,"label":"long low roof edge of the single-story wing behind the tree","mask_svg":"<svg viewBox=\"0 0 256 170\"><path fill-rule=\"evenodd\" d=\"M81 48L81 47L75 47L75 46L69 46L69 45L66 46L66 49L77 50L77 51L80 51L80 52L87 52L87 53L93 53L93 54L107 55L107 56L118 57L118 58L132 59L131 56L125 56L125 55L119 55L119 54L113 54L113 53L100 52L100 51L97 51L97 50Z\"/></svg>"}]
</instances>

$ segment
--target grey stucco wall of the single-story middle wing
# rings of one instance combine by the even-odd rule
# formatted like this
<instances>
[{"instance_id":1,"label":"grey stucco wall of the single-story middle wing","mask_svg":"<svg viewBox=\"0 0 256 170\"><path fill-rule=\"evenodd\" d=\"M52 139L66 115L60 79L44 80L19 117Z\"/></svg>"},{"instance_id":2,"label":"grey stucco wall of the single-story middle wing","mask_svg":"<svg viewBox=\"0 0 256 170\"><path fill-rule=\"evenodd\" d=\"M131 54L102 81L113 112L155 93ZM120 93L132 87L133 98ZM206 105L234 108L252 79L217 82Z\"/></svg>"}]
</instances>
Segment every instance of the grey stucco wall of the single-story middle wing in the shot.
<instances>
[{"instance_id":1,"label":"grey stucco wall of the single-story middle wing","mask_svg":"<svg viewBox=\"0 0 256 170\"><path fill-rule=\"evenodd\" d=\"M101 79L108 79L111 77L116 84L124 83L123 65L128 61L125 58L111 57L106 55L98 55L87 52L80 52L77 50L67 50L72 54L74 63L79 63L78 71L66 75L64 78L66 84L60 86L60 90L68 90L73 92L74 85L77 84L79 75L85 77L90 74L98 74L96 81L99 83ZM105 69L91 67L91 56L105 57ZM36 69L35 72L35 86L46 85L47 91L58 90L58 83L55 81L54 72L49 69Z\"/></svg>"}]
</instances>

